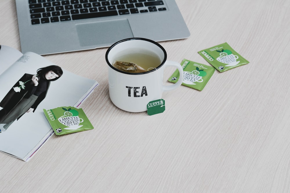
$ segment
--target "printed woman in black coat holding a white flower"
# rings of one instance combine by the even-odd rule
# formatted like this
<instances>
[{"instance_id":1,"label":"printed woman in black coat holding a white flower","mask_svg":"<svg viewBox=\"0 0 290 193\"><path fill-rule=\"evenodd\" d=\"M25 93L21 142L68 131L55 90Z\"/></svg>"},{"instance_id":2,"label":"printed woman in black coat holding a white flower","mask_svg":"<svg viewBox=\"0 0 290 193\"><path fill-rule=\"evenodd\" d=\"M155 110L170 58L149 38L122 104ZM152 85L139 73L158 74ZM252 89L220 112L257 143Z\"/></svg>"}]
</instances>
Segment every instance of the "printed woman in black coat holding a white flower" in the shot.
<instances>
[{"instance_id":1,"label":"printed woman in black coat holding a white flower","mask_svg":"<svg viewBox=\"0 0 290 193\"><path fill-rule=\"evenodd\" d=\"M50 82L59 79L62 74L61 67L56 65L40 68L36 75L24 74L0 102L3 108L0 110L0 133L24 113L35 112L46 97Z\"/></svg>"}]
</instances>

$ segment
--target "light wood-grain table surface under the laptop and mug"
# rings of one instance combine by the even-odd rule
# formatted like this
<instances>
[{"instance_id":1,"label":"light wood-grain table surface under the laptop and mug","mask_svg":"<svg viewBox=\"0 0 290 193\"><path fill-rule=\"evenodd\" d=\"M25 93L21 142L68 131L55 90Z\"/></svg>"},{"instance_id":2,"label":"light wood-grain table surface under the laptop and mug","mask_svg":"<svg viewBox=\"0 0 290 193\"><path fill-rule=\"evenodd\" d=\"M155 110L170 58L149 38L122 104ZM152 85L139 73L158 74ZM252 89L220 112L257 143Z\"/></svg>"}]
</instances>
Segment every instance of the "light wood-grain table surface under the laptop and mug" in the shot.
<instances>
[{"instance_id":1,"label":"light wood-grain table surface under the laptop and mug","mask_svg":"<svg viewBox=\"0 0 290 193\"><path fill-rule=\"evenodd\" d=\"M27 163L1 153L0 192L290 192L290 1L176 2L191 36L160 42L168 60L209 65L197 52L227 42L250 63L164 93L148 116L111 103L107 48L44 56L100 83L82 106L95 129ZM15 10L0 2L0 44L20 49Z\"/></svg>"}]
</instances>

